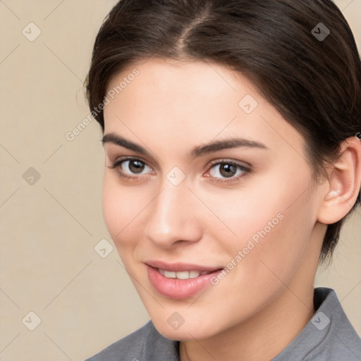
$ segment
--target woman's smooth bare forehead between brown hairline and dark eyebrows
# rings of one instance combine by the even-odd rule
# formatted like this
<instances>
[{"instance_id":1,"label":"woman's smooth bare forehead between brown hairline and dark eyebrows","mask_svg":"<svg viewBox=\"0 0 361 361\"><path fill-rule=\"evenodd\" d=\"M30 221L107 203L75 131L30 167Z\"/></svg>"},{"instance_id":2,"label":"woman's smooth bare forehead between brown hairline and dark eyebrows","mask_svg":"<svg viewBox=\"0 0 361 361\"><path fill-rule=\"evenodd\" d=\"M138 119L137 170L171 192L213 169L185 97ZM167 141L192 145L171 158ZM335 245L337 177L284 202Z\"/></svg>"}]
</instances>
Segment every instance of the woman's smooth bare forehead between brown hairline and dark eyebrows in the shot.
<instances>
[{"instance_id":1,"label":"woman's smooth bare forehead between brown hairline and dark eyebrows","mask_svg":"<svg viewBox=\"0 0 361 361\"><path fill-rule=\"evenodd\" d=\"M114 75L107 92L121 82L104 109L105 133L136 140L147 132L169 147L238 135L289 151L290 140L302 153L302 135L250 80L220 64L151 58Z\"/></svg>"}]
</instances>

